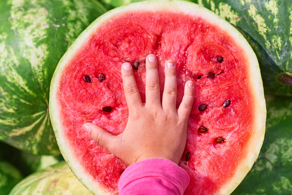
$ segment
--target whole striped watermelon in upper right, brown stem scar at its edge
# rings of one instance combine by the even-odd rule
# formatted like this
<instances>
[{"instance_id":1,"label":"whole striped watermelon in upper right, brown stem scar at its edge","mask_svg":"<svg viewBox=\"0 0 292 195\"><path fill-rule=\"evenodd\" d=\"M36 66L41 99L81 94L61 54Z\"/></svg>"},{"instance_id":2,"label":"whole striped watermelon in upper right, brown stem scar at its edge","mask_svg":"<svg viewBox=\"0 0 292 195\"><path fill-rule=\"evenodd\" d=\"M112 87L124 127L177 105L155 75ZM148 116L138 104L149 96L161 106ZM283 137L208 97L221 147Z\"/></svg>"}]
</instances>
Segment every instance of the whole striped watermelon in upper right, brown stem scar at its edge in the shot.
<instances>
[{"instance_id":1,"label":"whole striped watermelon in upper right, brown stem scar at its edge","mask_svg":"<svg viewBox=\"0 0 292 195\"><path fill-rule=\"evenodd\" d=\"M266 91L292 96L292 2L198 0L235 25L253 47Z\"/></svg>"}]
</instances>

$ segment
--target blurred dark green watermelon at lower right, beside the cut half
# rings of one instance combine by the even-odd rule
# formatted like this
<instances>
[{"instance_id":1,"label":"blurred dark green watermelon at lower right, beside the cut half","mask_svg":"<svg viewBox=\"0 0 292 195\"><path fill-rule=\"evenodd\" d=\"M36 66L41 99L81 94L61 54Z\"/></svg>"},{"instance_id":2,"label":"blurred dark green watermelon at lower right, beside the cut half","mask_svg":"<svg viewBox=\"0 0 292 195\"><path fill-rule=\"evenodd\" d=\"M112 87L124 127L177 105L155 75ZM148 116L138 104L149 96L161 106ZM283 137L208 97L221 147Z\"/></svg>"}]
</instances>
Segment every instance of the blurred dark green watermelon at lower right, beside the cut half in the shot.
<instances>
[{"instance_id":1,"label":"blurred dark green watermelon at lower right, beside the cut half","mask_svg":"<svg viewBox=\"0 0 292 195\"><path fill-rule=\"evenodd\" d=\"M266 135L260 155L233 195L292 193L292 101L266 94Z\"/></svg>"}]
</instances>

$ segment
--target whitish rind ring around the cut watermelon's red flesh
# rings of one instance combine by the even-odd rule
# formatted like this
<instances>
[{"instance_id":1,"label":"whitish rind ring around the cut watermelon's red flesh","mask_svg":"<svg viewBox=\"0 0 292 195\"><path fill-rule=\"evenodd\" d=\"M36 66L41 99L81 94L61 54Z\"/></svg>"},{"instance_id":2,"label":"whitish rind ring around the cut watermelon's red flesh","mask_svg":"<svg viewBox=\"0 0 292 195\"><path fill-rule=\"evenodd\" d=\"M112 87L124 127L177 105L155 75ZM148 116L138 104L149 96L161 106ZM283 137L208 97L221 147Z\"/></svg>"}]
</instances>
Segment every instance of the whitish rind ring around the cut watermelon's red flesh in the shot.
<instances>
[{"instance_id":1,"label":"whitish rind ring around the cut watermelon's red flesh","mask_svg":"<svg viewBox=\"0 0 292 195\"><path fill-rule=\"evenodd\" d=\"M236 30L231 24L229 24L224 19L220 18L218 15L214 14L212 11L209 11L206 8L203 8L197 4L187 2L187 1L178 1L178 0L163 0L163 1L144 1L138 3L132 3L126 6L115 8L108 11L104 15L97 18L90 26L83 31L82 34L76 39L76 41L71 45L67 50L64 56L59 61L59 64L53 75L51 86L50 86L50 99L49 99L49 112L51 116L51 121L53 129L56 135L56 139L60 148L60 151L69 165L72 172L80 180L80 182L87 187L93 194L110 194L102 188L98 183L95 183L93 177L87 173L83 166L79 163L77 159L74 158L74 152L70 148L70 141L66 139L64 132L62 132L63 126L61 121L60 113L61 108L57 103L56 93L58 90L59 78L62 76L63 70L66 68L66 65L70 62L70 59L82 49L83 45L87 44L87 41L90 39L91 35L96 32L96 30L104 23L110 20L111 17L114 17L116 14L126 13L128 11L137 11L140 10L140 13L143 11L155 12L155 11L167 11L175 13L184 13L191 16L201 17L211 24L215 24L218 28L220 27L223 31L226 31L230 37L233 37L234 41L241 45L243 51L245 52L247 60L247 72L249 73L248 77L250 80L251 91L255 103L255 124L253 129L253 134L248 141L248 154L245 159L240 161L236 169L236 173L233 178L224 185L221 190L217 193L218 195L229 195L235 190L235 188L240 184L244 179L246 174L250 171L253 166L254 161L257 159L260 148L263 144L264 134L265 134L265 124L266 124L266 102L263 93L263 82L260 75L260 68L258 60L252 48L243 37L239 31Z\"/></svg>"}]
</instances>

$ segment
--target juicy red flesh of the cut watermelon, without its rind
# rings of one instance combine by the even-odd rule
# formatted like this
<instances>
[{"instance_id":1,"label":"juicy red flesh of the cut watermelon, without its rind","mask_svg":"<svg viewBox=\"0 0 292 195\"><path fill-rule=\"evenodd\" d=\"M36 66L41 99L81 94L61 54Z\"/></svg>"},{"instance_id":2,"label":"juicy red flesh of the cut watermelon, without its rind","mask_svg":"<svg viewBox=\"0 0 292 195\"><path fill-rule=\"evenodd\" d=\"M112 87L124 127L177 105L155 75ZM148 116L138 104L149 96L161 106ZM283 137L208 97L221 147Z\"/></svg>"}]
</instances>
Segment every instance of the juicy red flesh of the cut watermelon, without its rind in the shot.
<instances>
[{"instance_id":1,"label":"juicy red flesh of the cut watermelon, without its rind","mask_svg":"<svg viewBox=\"0 0 292 195\"><path fill-rule=\"evenodd\" d=\"M85 43L86 42L86 43ZM117 15L104 22L80 47L63 71L58 99L66 139L85 171L111 193L117 193L121 172L127 167L82 130L93 122L113 135L124 131L128 109L124 96L121 65L132 65L142 102L145 102L145 59L158 58L162 99L168 59L176 63L177 100L182 102L184 85L195 83L195 98L188 120L187 142L180 161L190 176L185 194L214 194L234 175L253 131L254 105L248 67L243 49L217 24L182 13L141 13ZM217 57L223 57L220 63ZM105 80L100 82L100 73ZM209 76L214 73L214 78ZM85 82L83 76L90 76ZM198 76L201 76L198 79ZM209 76L209 77L208 77ZM229 99L228 107L223 103ZM198 107L206 104L204 111ZM111 112L103 107L110 106ZM201 133L200 126L208 128ZM216 143L221 137L227 141ZM191 153L186 165L185 154Z\"/></svg>"}]
</instances>

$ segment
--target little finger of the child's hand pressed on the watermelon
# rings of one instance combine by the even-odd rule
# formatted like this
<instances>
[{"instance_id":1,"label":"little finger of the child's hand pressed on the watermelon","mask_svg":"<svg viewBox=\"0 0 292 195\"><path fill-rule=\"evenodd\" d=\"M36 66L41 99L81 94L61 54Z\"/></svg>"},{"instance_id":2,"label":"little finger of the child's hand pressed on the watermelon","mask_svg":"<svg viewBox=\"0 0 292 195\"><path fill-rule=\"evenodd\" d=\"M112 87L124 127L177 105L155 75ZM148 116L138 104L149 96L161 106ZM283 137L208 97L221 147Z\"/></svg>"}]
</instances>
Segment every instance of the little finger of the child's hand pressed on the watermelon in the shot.
<instances>
[{"instance_id":1,"label":"little finger of the child's hand pressed on the watermelon","mask_svg":"<svg viewBox=\"0 0 292 195\"><path fill-rule=\"evenodd\" d=\"M192 81L187 81L185 83L184 97L182 98L182 103L178 108L178 116L183 120L188 120L188 116L190 115L194 102L194 94L194 83Z\"/></svg>"}]
</instances>

